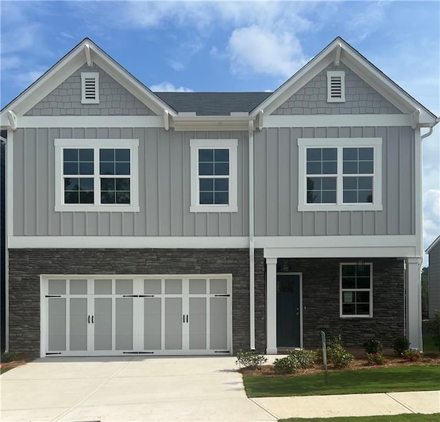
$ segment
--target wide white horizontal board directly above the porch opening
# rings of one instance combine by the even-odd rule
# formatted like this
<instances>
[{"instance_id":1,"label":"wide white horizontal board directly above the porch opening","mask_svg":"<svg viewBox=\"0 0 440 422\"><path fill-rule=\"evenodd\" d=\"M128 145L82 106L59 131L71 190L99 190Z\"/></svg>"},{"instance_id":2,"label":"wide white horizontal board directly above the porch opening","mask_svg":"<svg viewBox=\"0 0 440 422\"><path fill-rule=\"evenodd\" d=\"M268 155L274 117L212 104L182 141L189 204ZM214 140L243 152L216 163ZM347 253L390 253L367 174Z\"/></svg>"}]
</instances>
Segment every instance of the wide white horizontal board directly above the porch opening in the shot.
<instances>
[{"instance_id":1,"label":"wide white horizontal board directly above the porch opening","mask_svg":"<svg viewBox=\"0 0 440 422\"><path fill-rule=\"evenodd\" d=\"M417 247L415 235L368 236L255 236L255 247L335 249L341 247Z\"/></svg>"}]
</instances>

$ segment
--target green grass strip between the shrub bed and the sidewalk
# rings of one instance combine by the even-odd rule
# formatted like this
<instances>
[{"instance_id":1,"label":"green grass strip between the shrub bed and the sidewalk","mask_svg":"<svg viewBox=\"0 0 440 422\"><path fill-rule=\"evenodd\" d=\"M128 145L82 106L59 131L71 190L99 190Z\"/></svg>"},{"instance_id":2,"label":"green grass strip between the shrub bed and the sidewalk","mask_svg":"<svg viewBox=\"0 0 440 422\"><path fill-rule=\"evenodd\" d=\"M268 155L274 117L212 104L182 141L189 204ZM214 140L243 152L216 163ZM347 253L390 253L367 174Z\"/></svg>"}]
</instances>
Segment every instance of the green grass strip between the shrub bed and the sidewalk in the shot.
<instances>
[{"instance_id":1,"label":"green grass strip between the shrub bed and the sidewalk","mask_svg":"<svg viewBox=\"0 0 440 422\"><path fill-rule=\"evenodd\" d=\"M370 392L438 390L440 366L405 366L292 377L243 375L248 397L314 396Z\"/></svg>"}]
</instances>

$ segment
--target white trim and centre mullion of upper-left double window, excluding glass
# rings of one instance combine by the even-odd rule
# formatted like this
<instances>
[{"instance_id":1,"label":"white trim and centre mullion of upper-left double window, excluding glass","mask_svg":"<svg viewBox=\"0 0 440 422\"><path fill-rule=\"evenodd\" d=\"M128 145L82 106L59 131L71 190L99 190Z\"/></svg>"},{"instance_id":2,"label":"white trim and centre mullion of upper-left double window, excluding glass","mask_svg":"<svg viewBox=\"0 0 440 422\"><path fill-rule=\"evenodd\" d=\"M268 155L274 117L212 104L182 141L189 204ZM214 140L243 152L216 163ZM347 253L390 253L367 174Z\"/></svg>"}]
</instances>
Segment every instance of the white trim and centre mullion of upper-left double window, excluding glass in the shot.
<instances>
[{"instance_id":1,"label":"white trim and centre mullion of upper-left double window, excluding glass","mask_svg":"<svg viewBox=\"0 0 440 422\"><path fill-rule=\"evenodd\" d=\"M56 139L55 145L55 211L76 212L139 212L139 140L134 139ZM94 148L94 195L98 203L64 203L63 186L63 148ZM100 148L129 148L130 149L130 204L100 204L100 174L99 174L99 149Z\"/></svg>"}]
</instances>

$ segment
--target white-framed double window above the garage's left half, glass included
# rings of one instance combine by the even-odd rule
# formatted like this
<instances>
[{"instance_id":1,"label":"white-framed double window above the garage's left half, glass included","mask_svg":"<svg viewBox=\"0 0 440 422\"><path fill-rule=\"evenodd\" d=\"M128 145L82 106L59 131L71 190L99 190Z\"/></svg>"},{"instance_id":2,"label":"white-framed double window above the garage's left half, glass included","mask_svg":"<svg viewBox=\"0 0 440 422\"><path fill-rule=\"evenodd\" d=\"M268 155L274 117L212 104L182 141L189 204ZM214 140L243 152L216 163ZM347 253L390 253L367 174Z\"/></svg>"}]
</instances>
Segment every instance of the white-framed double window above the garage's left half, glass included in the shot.
<instances>
[{"instance_id":1,"label":"white-framed double window above the garage's left half, glass included","mask_svg":"<svg viewBox=\"0 0 440 422\"><path fill-rule=\"evenodd\" d=\"M56 211L139 211L138 140L55 140Z\"/></svg>"}]
</instances>

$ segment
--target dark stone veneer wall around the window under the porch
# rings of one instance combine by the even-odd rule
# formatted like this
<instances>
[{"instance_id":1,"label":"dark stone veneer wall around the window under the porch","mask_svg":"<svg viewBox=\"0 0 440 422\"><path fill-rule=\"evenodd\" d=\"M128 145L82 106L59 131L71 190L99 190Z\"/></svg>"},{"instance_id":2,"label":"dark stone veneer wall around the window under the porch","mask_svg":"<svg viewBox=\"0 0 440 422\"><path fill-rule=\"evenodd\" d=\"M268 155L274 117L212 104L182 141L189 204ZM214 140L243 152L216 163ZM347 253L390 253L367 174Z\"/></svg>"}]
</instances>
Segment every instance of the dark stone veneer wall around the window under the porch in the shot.
<instances>
[{"instance_id":1,"label":"dark stone veneer wall around the window under the porch","mask_svg":"<svg viewBox=\"0 0 440 422\"><path fill-rule=\"evenodd\" d=\"M327 339L342 335L342 344L362 347L376 337L392 347L404 335L404 264L396 258L365 258L373 263L373 318L340 318L340 263L353 258L278 259L278 271L303 273L303 340L305 348L320 346L320 331Z\"/></svg>"}]
</instances>

